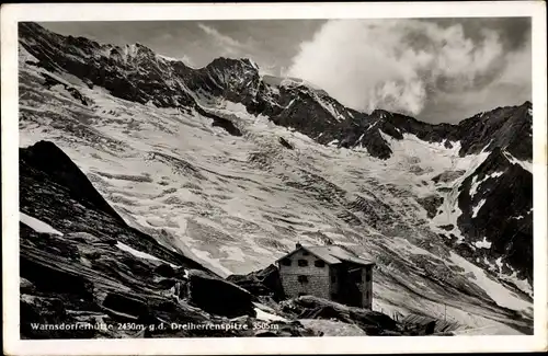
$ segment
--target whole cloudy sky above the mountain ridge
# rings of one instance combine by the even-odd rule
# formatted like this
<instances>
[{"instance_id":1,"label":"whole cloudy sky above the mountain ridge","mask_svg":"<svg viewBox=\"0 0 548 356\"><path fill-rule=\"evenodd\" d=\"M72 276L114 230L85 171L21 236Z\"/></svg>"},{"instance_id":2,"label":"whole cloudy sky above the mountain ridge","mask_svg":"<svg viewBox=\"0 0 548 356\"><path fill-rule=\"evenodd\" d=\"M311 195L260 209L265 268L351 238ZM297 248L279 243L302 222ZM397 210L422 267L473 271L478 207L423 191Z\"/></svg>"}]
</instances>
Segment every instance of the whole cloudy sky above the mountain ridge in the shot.
<instances>
[{"instance_id":1,"label":"whole cloudy sky above the mountain ridge","mask_svg":"<svg viewBox=\"0 0 548 356\"><path fill-rule=\"evenodd\" d=\"M251 58L342 104L452 123L532 100L529 18L48 22L100 43L139 43L203 67Z\"/></svg>"}]
</instances>

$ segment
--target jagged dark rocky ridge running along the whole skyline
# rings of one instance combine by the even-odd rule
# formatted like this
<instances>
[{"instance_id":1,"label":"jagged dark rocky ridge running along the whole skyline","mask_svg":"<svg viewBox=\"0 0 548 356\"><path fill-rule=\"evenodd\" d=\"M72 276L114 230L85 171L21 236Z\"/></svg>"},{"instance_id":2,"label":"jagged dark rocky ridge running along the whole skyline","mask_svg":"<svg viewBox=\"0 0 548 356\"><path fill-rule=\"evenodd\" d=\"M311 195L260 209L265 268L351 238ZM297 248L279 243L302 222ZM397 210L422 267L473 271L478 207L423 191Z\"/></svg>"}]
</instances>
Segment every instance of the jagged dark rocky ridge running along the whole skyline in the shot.
<instances>
[{"instance_id":1,"label":"jagged dark rocky ridge running along the whole skyline","mask_svg":"<svg viewBox=\"0 0 548 356\"><path fill-rule=\"evenodd\" d=\"M84 37L54 34L35 23L22 23L20 37L20 44L39 60L38 66L67 71L90 85L105 88L114 96L142 104L203 113L207 111L202 101L224 97L320 143L359 146L381 159L389 158L392 151L379 130L396 139L411 134L446 146L460 141L461 156L505 147L518 159L532 157L529 102L480 113L458 125L431 125L383 110L357 112L304 82L264 78L247 58L221 57L193 69L183 61L167 60L140 44L123 48L101 45Z\"/></svg>"}]
</instances>

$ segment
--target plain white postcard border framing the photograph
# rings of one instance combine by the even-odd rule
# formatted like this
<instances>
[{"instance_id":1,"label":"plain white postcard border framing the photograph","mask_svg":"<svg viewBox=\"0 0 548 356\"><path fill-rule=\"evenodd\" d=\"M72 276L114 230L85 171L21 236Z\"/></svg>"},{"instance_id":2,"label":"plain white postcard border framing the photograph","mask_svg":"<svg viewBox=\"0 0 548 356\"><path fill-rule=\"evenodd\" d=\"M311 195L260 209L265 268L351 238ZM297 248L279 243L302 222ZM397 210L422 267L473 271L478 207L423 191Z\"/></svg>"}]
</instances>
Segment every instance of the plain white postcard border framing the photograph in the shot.
<instances>
[{"instance_id":1,"label":"plain white postcard border framing the photograph","mask_svg":"<svg viewBox=\"0 0 548 356\"><path fill-rule=\"evenodd\" d=\"M535 335L453 337L19 340L19 21L533 18ZM355 354L547 349L546 4L541 1L231 4L7 4L1 8L4 353L10 355Z\"/></svg>"}]
</instances>

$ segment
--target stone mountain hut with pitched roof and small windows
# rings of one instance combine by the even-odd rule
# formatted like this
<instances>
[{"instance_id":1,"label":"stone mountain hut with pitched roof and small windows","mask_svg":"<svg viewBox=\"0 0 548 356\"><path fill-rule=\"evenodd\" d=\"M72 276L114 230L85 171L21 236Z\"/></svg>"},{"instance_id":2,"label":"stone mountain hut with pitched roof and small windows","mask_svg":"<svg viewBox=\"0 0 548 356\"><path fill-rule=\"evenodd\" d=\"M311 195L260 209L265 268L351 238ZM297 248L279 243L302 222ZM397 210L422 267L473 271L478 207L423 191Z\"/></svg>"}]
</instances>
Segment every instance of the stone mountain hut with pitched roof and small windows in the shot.
<instances>
[{"instance_id":1,"label":"stone mountain hut with pitched roof and small windows","mask_svg":"<svg viewBox=\"0 0 548 356\"><path fill-rule=\"evenodd\" d=\"M286 296L304 295L351 307L372 309L374 262L361 259L349 246L304 246L276 261Z\"/></svg>"}]
</instances>

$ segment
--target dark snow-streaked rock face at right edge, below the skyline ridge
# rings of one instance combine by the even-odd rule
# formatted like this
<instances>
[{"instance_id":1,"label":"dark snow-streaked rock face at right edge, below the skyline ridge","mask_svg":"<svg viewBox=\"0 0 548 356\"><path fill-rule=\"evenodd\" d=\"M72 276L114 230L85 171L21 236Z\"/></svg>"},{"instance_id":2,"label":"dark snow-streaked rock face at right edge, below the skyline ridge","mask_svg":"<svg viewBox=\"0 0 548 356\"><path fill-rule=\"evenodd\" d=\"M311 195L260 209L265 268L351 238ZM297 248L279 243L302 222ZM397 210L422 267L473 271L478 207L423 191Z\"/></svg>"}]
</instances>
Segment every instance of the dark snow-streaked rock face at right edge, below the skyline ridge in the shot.
<instances>
[{"instance_id":1,"label":"dark snow-streaked rock face at right edge, below the skyline ridge","mask_svg":"<svg viewBox=\"0 0 548 356\"><path fill-rule=\"evenodd\" d=\"M457 223L476 257L496 271L507 263L533 280L533 175L507 154L495 148L464 181Z\"/></svg>"}]
</instances>

